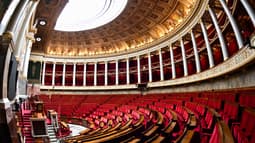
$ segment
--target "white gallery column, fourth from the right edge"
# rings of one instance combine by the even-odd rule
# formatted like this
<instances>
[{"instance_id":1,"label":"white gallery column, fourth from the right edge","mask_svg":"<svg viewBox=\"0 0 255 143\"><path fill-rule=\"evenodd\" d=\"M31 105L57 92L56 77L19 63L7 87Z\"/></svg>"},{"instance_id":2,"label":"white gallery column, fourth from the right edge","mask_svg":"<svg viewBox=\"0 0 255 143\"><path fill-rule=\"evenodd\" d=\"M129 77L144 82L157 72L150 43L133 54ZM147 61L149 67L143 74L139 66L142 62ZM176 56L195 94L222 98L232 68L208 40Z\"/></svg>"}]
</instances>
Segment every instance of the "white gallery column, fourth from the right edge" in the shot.
<instances>
[{"instance_id":1,"label":"white gallery column, fourth from the right edge","mask_svg":"<svg viewBox=\"0 0 255 143\"><path fill-rule=\"evenodd\" d=\"M202 20L200 21L200 26L201 26L201 29L202 29L202 32L203 32L203 36L204 36L204 40L205 40L205 46L206 46L206 50L207 50L207 53L208 53L209 65L210 65L210 68L212 68L214 66L212 49L211 49L211 46L210 46L210 42L208 40L207 30L206 30L205 25L204 25Z\"/></svg>"}]
</instances>

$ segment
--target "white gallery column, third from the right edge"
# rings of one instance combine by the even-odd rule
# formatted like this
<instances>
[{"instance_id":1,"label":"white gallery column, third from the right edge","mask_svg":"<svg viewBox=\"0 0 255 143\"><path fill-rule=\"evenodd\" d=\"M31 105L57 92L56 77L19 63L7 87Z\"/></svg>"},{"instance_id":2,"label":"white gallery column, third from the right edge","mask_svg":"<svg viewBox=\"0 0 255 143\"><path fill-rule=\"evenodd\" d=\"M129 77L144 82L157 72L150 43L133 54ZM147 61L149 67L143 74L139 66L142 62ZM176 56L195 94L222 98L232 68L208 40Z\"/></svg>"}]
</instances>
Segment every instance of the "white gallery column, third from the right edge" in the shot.
<instances>
[{"instance_id":1,"label":"white gallery column, third from the right edge","mask_svg":"<svg viewBox=\"0 0 255 143\"><path fill-rule=\"evenodd\" d=\"M212 21L213 21L213 25L216 29L216 32L219 36L219 40L220 40L220 46L221 46L221 51L222 51L222 55L223 55L223 59L226 60L228 59L228 51L227 51L227 45L226 45L226 42L224 40L224 37L223 37L223 34L221 32L221 29L218 25L218 22L217 22L217 18L216 18L216 15L215 13L213 12L213 10L208 6L208 11L209 11L209 14L212 18Z\"/></svg>"}]
</instances>

